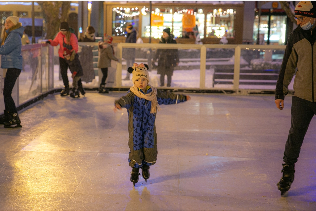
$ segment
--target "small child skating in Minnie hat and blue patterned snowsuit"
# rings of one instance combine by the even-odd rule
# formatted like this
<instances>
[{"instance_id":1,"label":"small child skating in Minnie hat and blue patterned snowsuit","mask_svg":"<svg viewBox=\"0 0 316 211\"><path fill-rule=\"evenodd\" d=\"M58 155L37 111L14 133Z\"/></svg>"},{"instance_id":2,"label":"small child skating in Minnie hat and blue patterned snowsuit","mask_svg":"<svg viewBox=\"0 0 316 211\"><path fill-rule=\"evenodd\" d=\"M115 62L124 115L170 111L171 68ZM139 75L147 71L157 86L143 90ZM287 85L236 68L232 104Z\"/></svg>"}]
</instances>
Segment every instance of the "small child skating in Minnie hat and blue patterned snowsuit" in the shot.
<instances>
[{"instance_id":1,"label":"small child skating in Minnie hat and blue patterned snowsuit","mask_svg":"<svg viewBox=\"0 0 316 211\"><path fill-rule=\"evenodd\" d=\"M128 145L130 153L128 156L131 171L131 182L138 182L139 168L142 168L143 178L149 179L149 166L157 161L157 134L155 119L157 110L160 111L161 104L177 104L190 100L190 96L174 94L167 91L157 91L155 87L148 84L149 74L146 64L134 63L128 68L132 73L133 86L127 95L115 101L114 112L117 109L127 109L128 113Z\"/></svg>"}]
</instances>

